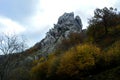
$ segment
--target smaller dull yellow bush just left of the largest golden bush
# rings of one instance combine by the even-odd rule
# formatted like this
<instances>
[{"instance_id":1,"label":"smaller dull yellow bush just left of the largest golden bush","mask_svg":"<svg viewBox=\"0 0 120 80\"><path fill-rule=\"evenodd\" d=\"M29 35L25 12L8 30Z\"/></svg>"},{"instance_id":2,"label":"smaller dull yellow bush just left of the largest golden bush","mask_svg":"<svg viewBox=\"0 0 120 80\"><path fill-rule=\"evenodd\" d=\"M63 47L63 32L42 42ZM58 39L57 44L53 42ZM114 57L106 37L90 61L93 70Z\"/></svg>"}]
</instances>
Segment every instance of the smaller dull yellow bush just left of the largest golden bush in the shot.
<instances>
[{"instance_id":1,"label":"smaller dull yellow bush just left of the largest golden bush","mask_svg":"<svg viewBox=\"0 0 120 80\"><path fill-rule=\"evenodd\" d=\"M35 66L31 69L32 80L53 80L56 78L56 70L59 65L59 57L54 54L48 56L45 60L43 57L33 62Z\"/></svg>"}]
</instances>

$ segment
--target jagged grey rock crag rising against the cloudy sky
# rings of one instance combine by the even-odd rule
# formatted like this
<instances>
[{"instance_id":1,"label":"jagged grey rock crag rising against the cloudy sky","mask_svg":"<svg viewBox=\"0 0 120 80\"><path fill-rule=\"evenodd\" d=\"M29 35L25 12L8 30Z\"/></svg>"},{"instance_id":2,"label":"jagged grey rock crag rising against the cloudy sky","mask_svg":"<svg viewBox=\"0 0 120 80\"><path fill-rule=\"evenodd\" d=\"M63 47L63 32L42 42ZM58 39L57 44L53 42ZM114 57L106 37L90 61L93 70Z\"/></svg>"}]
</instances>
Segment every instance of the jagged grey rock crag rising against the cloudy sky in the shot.
<instances>
[{"instance_id":1,"label":"jagged grey rock crag rising against the cloudy sky","mask_svg":"<svg viewBox=\"0 0 120 80\"><path fill-rule=\"evenodd\" d=\"M74 13L64 13L59 17L57 24L54 28L47 32L46 37L35 46L40 46L40 52L48 54L53 52L61 40L68 38L68 35L73 32L82 31L82 22L79 16L74 17Z\"/></svg>"}]
</instances>

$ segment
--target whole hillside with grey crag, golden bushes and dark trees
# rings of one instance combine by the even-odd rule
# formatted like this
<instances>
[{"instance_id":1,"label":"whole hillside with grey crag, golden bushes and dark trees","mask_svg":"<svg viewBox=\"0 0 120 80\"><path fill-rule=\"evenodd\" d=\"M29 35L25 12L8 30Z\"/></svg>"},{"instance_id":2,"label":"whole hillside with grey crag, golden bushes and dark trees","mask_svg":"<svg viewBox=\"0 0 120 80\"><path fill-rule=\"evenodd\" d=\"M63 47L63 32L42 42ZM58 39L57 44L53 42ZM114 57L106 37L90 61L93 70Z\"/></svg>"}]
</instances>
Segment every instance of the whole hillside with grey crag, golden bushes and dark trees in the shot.
<instances>
[{"instance_id":1,"label":"whole hillside with grey crag, golden bushes and dark trees","mask_svg":"<svg viewBox=\"0 0 120 80\"><path fill-rule=\"evenodd\" d=\"M47 36L15 54L8 80L120 80L120 12L96 9L82 29L65 13ZM0 79L1 80L1 79Z\"/></svg>"}]
</instances>

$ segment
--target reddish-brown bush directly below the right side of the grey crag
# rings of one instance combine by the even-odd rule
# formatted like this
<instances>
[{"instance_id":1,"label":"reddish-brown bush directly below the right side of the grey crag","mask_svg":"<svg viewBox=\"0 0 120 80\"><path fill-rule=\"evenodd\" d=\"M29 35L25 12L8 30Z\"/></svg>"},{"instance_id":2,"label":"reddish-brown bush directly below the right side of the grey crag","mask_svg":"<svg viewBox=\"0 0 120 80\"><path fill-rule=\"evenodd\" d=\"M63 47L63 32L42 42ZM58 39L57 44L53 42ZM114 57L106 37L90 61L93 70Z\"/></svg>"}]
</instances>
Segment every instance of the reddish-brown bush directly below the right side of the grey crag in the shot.
<instances>
[{"instance_id":1,"label":"reddish-brown bush directly below the right side of the grey crag","mask_svg":"<svg viewBox=\"0 0 120 80\"><path fill-rule=\"evenodd\" d=\"M81 33L71 33L69 38L65 38L62 40L61 44L59 45L58 49L67 51L69 48L78 45L80 43L84 43L86 39L86 35L84 32Z\"/></svg>"}]
</instances>

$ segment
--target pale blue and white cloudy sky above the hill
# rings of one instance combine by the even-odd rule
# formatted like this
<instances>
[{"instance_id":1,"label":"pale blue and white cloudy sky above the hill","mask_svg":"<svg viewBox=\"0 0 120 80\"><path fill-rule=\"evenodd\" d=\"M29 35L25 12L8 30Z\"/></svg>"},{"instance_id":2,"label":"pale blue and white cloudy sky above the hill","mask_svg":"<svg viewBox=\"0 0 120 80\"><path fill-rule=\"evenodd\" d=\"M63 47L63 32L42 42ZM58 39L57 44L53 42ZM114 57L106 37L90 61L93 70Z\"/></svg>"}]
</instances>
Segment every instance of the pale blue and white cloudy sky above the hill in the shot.
<instances>
[{"instance_id":1,"label":"pale blue and white cloudy sky above the hill","mask_svg":"<svg viewBox=\"0 0 120 80\"><path fill-rule=\"evenodd\" d=\"M115 7L119 0L0 0L0 33L15 32L26 36L34 45L57 23L64 12L74 12L82 19L83 28L96 8Z\"/></svg>"}]
</instances>

